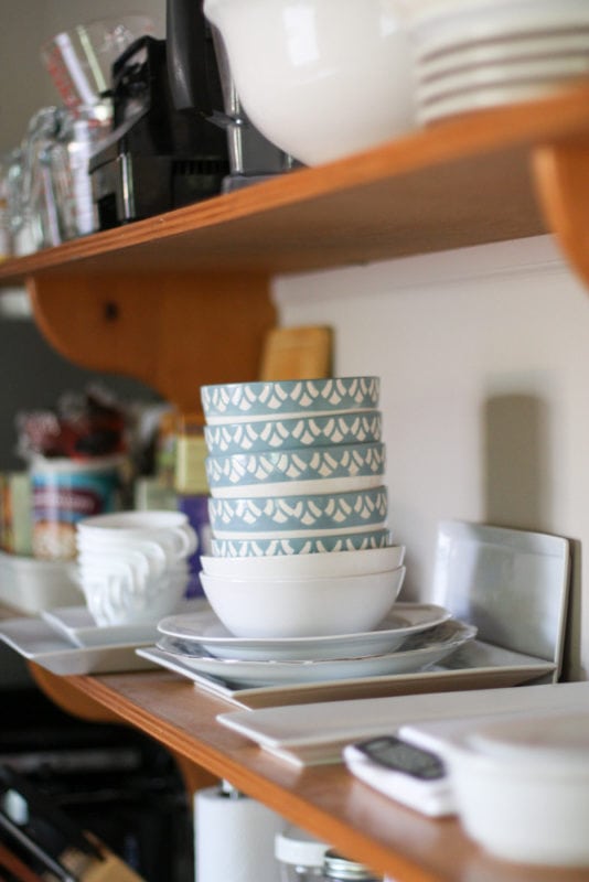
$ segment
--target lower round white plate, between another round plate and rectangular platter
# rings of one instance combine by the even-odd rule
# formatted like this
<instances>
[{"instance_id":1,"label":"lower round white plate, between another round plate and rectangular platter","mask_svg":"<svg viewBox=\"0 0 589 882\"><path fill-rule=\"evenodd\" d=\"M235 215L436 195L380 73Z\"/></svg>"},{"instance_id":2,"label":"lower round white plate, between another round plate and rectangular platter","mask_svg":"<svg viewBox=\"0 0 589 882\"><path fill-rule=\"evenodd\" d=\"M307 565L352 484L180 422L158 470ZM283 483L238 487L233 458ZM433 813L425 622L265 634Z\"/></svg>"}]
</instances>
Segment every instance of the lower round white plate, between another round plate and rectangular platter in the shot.
<instances>
[{"instance_id":1,"label":"lower round white plate, between another round plate and rectangular platter","mask_svg":"<svg viewBox=\"0 0 589 882\"><path fill-rule=\"evenodd\" d=\"M162 637L157 647L181 658L183 664L213 677L245 686L272 686L293 682L320 682L351 677L376 677L384 674L405 674L422 670L449 656L459 646L474 639L476 628L449 620L426 633L416 635L415 648L360 658L324 658L320 660L246 660L215 658L211 655L190 655L176 637Z\"/></svg>"}]
</instances>

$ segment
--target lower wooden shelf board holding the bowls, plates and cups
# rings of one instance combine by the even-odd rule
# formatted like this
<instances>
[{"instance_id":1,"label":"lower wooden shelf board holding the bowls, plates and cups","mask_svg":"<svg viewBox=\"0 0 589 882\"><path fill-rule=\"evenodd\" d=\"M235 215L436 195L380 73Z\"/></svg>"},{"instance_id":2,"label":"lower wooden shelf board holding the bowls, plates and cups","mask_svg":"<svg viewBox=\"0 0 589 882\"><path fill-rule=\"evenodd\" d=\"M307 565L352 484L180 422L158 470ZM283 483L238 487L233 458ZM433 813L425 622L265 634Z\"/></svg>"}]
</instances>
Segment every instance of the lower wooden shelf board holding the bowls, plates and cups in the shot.
<instances>
[{"instance_id":1,"label":"lower wooden shelf board holding the bowls, plates and cups","mask_svg":"<svg viewBox=\"0 0 589 882\"><path fill-rule=\"evenodd\" d=\"M429 820L372 790L343 765L300 771L266 755L216 722L216 714L233 706L169 671L56 677L32 668L45 691L67 710L89 716L94 703L99 719L113 714L195 766L195 782L200 770L226 778L395 882L589 882L589 870L496 861L463 835L456 818Z\"/></svg>"}]
</instances>

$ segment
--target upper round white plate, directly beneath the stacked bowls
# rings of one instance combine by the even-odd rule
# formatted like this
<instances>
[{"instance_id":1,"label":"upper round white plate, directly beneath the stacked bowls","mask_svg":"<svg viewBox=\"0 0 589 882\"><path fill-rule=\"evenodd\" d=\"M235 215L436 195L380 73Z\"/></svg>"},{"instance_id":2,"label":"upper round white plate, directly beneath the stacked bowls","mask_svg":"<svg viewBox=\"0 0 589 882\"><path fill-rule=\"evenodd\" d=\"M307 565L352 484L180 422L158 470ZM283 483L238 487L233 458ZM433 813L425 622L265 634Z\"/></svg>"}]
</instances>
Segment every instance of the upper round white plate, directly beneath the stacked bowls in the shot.
<instances>
[{"instance_id":1,"label":"upper round white plate, directly beneath the stacked bowls","mask_svg":"<svg viewBox=\"0 0 589 882\"><path fill-rule=\"evenodd\" d=\"M431 603L395 603L374 631L330 634L325 637L234 637L215 613L170 615L158 631L205 649L218 658L267 662L287 659L357 658L390 653L413 634L446 622L450 613Z\"/></svg>"}]
</instances>

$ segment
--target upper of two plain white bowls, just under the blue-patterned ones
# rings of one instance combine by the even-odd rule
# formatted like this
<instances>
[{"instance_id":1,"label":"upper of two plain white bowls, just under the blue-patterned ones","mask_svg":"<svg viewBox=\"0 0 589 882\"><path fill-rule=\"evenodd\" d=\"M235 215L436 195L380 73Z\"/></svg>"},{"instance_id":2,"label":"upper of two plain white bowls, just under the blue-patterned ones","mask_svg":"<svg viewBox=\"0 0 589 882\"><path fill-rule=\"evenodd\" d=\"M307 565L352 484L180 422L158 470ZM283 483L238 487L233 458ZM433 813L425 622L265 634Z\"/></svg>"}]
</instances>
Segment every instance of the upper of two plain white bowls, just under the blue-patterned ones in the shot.
<instances>
[{"instance_id":1,"label":"upper of two plain white bowls, just under the blue-patterned ones","mask_svg":"<svg viewBox=\"0 0 589 882\"><path fill-rule=\"evenodd\" d=\"M274 557L201 556L207 576L225 579L317 579L365 576L403 566L405 546L367 548L362 551L334 551L331 555L281 555Z\"/></svg>"}]
</instances>

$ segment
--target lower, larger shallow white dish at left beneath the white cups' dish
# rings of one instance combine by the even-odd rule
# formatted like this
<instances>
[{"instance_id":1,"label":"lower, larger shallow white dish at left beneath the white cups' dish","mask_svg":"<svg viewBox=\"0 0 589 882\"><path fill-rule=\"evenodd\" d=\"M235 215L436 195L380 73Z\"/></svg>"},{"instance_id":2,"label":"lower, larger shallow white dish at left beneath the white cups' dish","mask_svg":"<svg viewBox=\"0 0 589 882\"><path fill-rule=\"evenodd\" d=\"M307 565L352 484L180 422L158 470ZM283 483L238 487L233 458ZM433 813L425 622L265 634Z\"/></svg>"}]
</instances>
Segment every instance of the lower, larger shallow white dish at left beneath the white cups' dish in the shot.
<instances>
[{"instance_id":1,"label":"lower, larger shallow white dish at left beneath the white cups' dish","mask_svg":"<svg viewBox=\"0 0 589 882\"><path fill-rule=\"evenodd\" d=\"M138 643L76 648L42 619L7 619L0 622L0 639L23 658L60 676L153 667L153 662L136 654Z\"/></svg>"}]
</instances>

